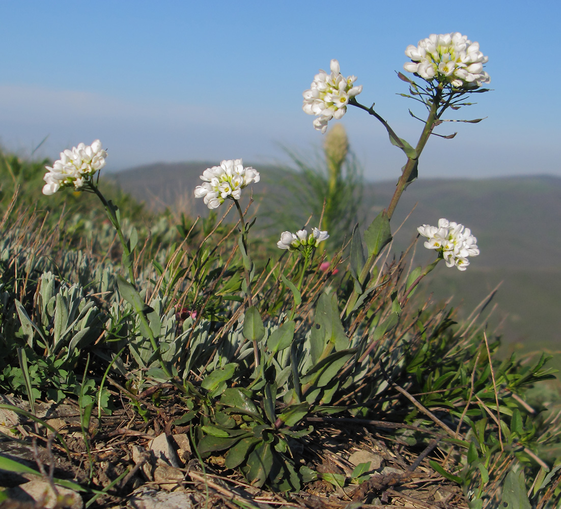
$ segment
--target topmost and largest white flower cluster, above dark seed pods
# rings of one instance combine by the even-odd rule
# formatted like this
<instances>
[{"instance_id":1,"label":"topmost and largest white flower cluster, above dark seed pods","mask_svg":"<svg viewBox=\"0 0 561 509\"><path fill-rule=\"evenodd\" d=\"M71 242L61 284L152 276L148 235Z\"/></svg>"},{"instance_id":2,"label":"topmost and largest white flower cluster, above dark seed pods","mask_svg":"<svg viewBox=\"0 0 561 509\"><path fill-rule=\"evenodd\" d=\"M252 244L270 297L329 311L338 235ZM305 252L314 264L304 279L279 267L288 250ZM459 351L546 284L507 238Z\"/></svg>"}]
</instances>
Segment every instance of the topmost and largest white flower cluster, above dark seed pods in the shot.
<instances>
[{"instance_id":1,"label":"topmost and largest white flower cluster, above dark seed pods","mask_svg":"<svg viewBox=\"0 0 561 509\"><path fill-rule=\"evenodd\" d=\"M477 88L491 81L483 70L489 57L479 51L479 43L472 43L459 32L431 34L417 46L408 45L405 54L412 62L407 62L403 68L426 81L437 79L455 88Z\"/></svg>"}]
</instances>

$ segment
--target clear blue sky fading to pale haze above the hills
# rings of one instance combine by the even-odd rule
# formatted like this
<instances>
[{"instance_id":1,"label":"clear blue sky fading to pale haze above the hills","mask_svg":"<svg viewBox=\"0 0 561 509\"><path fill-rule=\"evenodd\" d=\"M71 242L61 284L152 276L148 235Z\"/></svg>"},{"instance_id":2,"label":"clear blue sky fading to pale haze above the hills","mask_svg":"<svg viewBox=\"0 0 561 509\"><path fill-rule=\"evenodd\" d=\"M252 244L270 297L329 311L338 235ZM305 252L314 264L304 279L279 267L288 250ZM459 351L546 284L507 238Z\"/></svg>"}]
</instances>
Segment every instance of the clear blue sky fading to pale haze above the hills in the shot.
<instances>
[{"instance_id":1,"label":"clear blue sky fading to pale haze above the hills","mask_svg":"<svg viewBox=\"0 0 561 509\"><path fill-rule=\"evenodd\" d=\"M493 91L451 118L422 154L420 177L561 176L558 2L0 2L0 144L35 155L96 138L109 171L157 161L286 161L323 140L302 91L331 58L358 76L358 99L416 143L421 123L398 97L404 50L459 31L489 56ZM401 152L350 108L351 147L370 180L397 178Z\"/></svg>"}]
</instances>

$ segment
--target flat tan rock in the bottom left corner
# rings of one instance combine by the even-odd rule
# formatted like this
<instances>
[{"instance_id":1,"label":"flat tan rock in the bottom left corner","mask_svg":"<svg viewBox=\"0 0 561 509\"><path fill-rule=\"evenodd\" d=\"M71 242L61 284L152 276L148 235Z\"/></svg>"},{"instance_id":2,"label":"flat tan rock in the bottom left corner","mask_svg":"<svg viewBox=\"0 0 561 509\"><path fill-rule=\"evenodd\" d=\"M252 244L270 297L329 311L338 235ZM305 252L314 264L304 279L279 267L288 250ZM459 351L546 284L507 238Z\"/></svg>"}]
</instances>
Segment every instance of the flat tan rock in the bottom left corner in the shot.
<instances>
[{"instance_id":1,"label":"flat tan rock in the bottom left corner","mask_svg":"<svg viewBox=\"0 0 561 509\"><path fill-rule=\"evenodd\" d=\"M68 488L57 486L57 497L54 494L49 483L43 479L32 479L27 483L20 484L12 488L8 488L6 493L12 500L19 502L34 502L35 507L44 507L44 509L53 509L54 507L65 507L68 509L82 509L84 502L82 497L75 491Z\"/></svg>"}]
</instances>

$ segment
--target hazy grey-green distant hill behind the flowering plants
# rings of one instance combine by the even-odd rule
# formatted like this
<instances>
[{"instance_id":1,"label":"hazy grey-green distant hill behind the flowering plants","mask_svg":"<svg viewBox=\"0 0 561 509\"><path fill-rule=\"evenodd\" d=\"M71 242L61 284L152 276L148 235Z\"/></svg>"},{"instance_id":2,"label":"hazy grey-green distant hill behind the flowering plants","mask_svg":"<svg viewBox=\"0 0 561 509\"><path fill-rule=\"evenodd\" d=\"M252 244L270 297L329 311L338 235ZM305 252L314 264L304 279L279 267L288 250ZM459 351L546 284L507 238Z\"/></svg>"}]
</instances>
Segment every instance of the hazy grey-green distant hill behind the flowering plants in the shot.
<instances>
[{"instance_id":1,"label":"hazy grey-green distant hill behind the flowering plants","mask_svg":"<svg viewBox=\"0 0 561 509\"><path fill-rule=\"evenodd\" d=\"M251 164L250 162L245 162ZM151 208L178 207L192 215L208 212L193 190L204 169L216 163L159 163L131 168L111 175L123 190ZM255 166L262 182L254 186L255 200L275 187L282 168ZM270 176L270 178L268 178ZM390 201L396 182L365 182L365 226ZM263 200L266 213L270 200ZM430 279L436 300L455 295L452 305L463 302L466 315L499 282L498 304L491 323L504 320L509 343L528 347L561 348L561 178L528 176L483 180L423 179L413 182L402 195L393 218L396 228L413 210L394 240L394 250L404 249L421 224L436 224L440 217L470 227L481 254L465 273L438 267ZM269 208L268 208L269 207ZM302 211L302 217L307 212ZM417 246L416 260L429 260L429 251ZM427 288L429 286L427 285Z\"/></svg>"}]
</instances>

